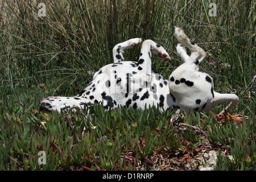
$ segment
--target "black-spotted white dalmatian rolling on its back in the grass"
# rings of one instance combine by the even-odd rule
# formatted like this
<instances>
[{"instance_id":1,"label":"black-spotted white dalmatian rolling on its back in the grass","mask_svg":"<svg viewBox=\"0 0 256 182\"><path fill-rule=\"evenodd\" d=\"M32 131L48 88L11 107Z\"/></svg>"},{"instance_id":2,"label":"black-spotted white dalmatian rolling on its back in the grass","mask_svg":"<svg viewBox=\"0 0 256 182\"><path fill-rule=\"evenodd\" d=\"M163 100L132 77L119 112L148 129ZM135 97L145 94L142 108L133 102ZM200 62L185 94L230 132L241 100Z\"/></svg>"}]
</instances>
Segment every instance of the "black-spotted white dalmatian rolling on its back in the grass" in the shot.
<instances>
[{"instance_id":1,"label":"black-spotted white dalmatian rolling on its back in the grass","mask_svg":"<svg viewBox=\"0 0 256 182\"><path fill-rule=\"evenodd\" d=\"M187 112L208 112L221 102L230 102L226 111L236 106L238 97L235 94L214 92L212 78L207 73L199 72L198 65L207 53L191 42L181 28L175 27L175 36L180 42L176 47L177 53L184 63L168 79L151 68L152 53L164 61L170 60L166 50L152 40L142 43L142 39L130 39L113 48L114 63L94 73L92 82L80 94L75 97L46 97L39 109L46 113L60 112L67 107L83 108L99 102L106 110L118 106L146 109L154 105ZM141 43L139 60L124 61L125 50L140 46ZM190 56L183 45L190 49Z\"/></svg>"}]
</instances>

